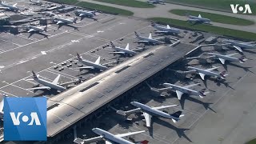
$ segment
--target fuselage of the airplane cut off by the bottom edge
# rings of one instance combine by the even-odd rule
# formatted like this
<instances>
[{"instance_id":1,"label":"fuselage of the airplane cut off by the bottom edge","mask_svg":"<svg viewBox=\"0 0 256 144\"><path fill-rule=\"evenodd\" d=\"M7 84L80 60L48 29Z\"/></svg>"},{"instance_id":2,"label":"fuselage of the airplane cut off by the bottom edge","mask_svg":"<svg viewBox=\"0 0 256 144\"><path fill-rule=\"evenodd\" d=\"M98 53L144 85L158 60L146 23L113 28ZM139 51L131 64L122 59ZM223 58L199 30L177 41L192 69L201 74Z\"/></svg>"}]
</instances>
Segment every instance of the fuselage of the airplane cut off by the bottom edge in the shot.
<instances>
[{"instance_id":1,"label":"fuselage of the airplane cut off by the bottom edge","mask_svg":"<svg viewBox=\"0 0 256 144\"><path fill-rule=\"evenodd\" d=\"M126 139L114 136L114 134L111 134L111 133L107 132L106 130L94 128L93 131L95 134L102 136L106 140L110 140L110 142L117 142L118 144L134 144L133 142L129 142Z\"/></svg>"}]
</instances>

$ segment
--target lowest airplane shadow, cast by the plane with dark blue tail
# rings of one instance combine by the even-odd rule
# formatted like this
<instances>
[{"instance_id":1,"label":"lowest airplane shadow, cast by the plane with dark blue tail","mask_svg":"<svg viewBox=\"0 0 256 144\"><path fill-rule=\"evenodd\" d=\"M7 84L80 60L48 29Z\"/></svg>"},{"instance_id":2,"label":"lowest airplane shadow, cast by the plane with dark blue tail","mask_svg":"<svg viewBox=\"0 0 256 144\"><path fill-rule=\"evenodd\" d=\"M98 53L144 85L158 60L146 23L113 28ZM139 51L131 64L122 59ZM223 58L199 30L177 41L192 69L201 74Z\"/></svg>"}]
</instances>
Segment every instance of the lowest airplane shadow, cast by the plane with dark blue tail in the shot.
<instances>
[{"instance_id":1,"label":"lowest airplane shadow, cast by the plane with dark blue tail","mask_svg":"<svg viewBox=\"0 0 256 144\"><path fill-rule=\"evenodd\" d=\"M178 128L178 127L176 127L176 126L170 124L169 122L163 121L162 119L156 118L156 117L152 117L152 123L153 123L153 122L156 122L156 123L158 123L159 125L162 125L162 126L166 126L166 127L170 128L170 129L172 129L172 130L175 130L175 132L178 134L178 137L179 137L179 138L182 138L182 137L183 137L183 138L186 138L186 140L188 140L189 142L192 142L192 140L191 140L190 138L188 138L188 137L186 136L186 134L185 134L185 131L186 131L186 130L190 130L190 129ZM154 130L153 130L153 127L150 126L150 127L148 128L148 130L149 130L150 136L151 136L152 138L154 138L154 134L153 134L153 131L154 131Z\"/></svg>"}]
</instances>

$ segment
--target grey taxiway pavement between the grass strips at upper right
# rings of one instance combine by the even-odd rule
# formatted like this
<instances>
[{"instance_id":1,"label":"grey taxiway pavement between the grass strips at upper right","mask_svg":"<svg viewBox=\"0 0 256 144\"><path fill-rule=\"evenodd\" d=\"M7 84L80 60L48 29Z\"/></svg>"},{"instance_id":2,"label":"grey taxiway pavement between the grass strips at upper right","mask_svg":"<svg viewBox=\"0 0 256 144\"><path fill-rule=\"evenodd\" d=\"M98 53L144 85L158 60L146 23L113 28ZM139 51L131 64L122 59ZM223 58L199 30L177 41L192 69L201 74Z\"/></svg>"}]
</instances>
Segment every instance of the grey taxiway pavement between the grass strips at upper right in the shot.
<instances>
[{"instance_id":1,"label":"grey taxiway pavement between the grass strips at upper right","mask_svg":"<svg viewBox=\"0 0 256 144\"><path fill-rule=\"evenodd\" d=\"M80 0L82 1L82 0ZM154 8L148 8L148 9L140 9L140 8L134 8L134 7L128 7L128 6L119 6L119 5L114 5L106 2L96 2L94 0L85 0L86 2L94 2L97 4L101 5L106 5L106 6L113 6L117 7L120 9L125 9L125 10L130 10L134 12L135 17L139 18L152 18L152 17L163 17L163 18L174 18L174 19L180 19L185 21L187 18L184 16L178 16L176 14L171 14L168 11L173 10L173 9L182 9L182 10L198 10L202 12L208 12L208 13L213 13L213 14L223 14L227 16L232 16L232 17L237 17L237 18L246 18L251 21L254 21L254 25L251 26L234 26L234 25L229 25L229 24L222 24L222 23L217 23L217 22L212 22L214 26L220 26L220 27L225 27L225 28L230 28L234 30L242 30L242 31L248 31L248 32L254 32L256 33L256 16L250 16L250 15L241 15L241 14L232 14L232 13L226 13L226 12L221 12L221 11L215 11L215 10L206 10L206 9L200 9L200 8L195 8L191 6L181 6L181 5L175 5L175 4L170 4L166 3L165 5L156 5ZM230 9L231 10L231 9ZM203 17L203 15L202 15Z\"/></svg>"}]
</instances>

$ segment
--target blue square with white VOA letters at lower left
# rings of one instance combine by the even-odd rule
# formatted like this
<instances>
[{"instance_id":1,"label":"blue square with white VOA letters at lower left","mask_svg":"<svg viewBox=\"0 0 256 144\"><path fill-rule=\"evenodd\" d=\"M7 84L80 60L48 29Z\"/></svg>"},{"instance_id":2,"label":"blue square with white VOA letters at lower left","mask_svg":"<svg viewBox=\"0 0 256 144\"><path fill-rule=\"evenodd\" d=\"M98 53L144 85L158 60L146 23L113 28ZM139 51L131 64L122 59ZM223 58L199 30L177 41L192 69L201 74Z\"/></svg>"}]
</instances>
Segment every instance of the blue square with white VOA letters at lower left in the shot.
<instances>
[{"instance_id":1,"label":"blue square with white VOA letters at lower left","mask_svg":"<svg viewBox=\"0 0 256 144\"><path fill-rule=\"evenodd\" d=\"M46 141L47 99L4 98L4 140Z\"/></svg>"}]
</instances>

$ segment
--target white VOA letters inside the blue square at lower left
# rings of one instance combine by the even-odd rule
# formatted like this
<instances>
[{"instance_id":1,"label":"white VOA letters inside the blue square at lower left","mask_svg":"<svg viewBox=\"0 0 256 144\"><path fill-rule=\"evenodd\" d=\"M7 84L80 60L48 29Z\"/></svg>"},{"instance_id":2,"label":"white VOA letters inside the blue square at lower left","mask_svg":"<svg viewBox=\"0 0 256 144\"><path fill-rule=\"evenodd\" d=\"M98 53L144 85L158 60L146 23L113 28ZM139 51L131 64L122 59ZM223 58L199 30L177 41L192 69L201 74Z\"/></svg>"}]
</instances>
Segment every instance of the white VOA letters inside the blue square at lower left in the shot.
<instances>
[{"instance_id":1,"label":"white VOA letters inside the blue square at lower left","mask_svg":"<svg viewBox=\"0 0 256 144\"><path fill-rule=\"evenodd\" d=\"M18 112L18 114L15 114L14 112L10 112L10 118L14 122L15 126L20 125L19 118L22 115L22 112ZM23 122L28 122L30 120L30 123L28 125L35 125L41 126L41 122L39 121L38 114L36 112L31 112L30 118L27 115L22 116Z\"/></svg>"}]
</instances>

